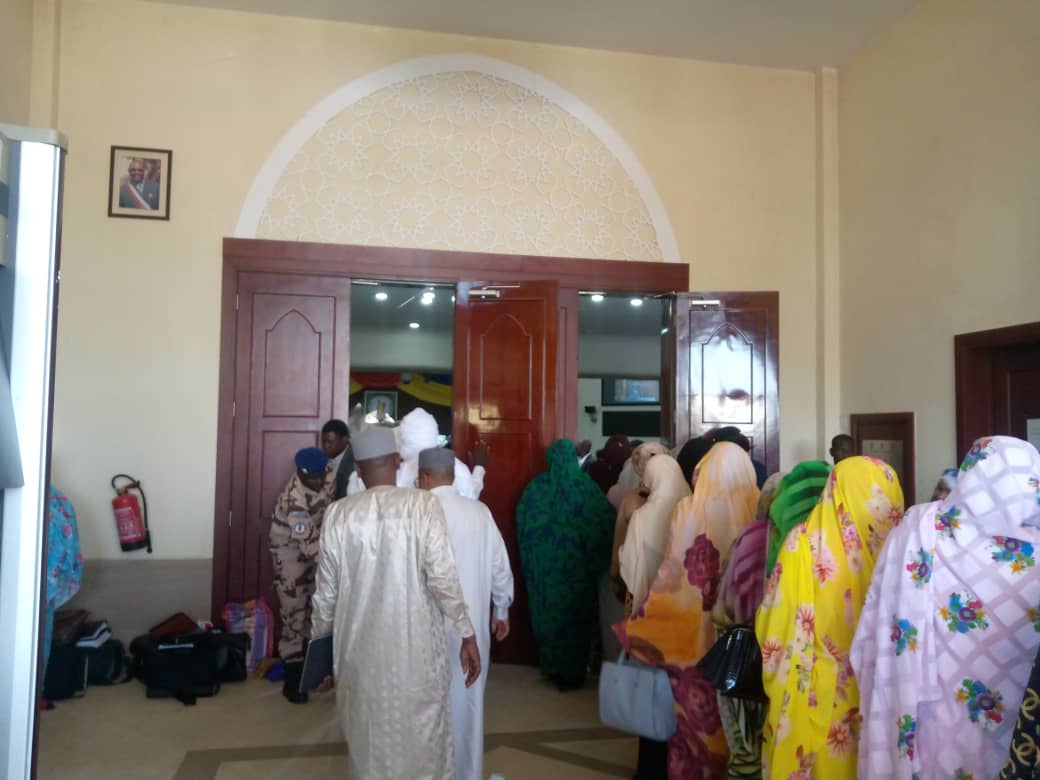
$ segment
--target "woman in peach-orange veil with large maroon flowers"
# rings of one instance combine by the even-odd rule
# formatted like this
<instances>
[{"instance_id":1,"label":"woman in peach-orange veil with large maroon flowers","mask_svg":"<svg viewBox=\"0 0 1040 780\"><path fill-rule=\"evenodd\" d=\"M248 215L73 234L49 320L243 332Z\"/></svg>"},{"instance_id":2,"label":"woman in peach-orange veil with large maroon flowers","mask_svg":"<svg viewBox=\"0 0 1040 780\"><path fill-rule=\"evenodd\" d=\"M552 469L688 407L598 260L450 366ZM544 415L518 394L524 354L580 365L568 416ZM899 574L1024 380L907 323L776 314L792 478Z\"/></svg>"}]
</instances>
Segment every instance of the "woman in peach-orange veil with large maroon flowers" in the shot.
<instances>
[{"instance_id":1,"label":"woman in peach-orange veil with large maroon flowers","mask_svg":"<svg viewBox=\"0 0 1040 780\"><path fill-rule=\"evenodd\" d=\"M758 488L748 453L720 442L694 473L694 494L672 518L665 561L650 594L617 627L635 659L668 671L678 729L669 743L670 780L726 776L727 745L719 700L696 664L717 639L711 609L723 556L755 519Z\"/></svg>"}]
</instances>

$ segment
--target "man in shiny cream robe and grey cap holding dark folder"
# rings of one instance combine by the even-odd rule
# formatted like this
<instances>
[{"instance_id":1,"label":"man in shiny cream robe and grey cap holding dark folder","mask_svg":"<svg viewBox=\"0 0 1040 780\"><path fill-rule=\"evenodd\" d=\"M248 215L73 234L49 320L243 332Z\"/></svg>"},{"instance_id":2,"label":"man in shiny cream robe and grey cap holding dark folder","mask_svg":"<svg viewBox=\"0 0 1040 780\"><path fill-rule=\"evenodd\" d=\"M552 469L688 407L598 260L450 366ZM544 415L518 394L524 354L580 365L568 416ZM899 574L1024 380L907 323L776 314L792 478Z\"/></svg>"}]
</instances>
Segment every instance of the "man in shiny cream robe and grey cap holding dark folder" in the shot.
<instances>
[{"instance_id":1,"label":"man in shiny cream robe and grey cap holding dark folder","mask_svg":"<svg viewBox=\"0 0 1040 780\"><path fill-rule=\"evenodd\" d=\"M311 636L333 633L336 705L352 780L453 780L445 622L473 684L480 655L437 498L394 486L393 432L354 439L366 491L321 528Z\"/></svg>"}]
</instances>

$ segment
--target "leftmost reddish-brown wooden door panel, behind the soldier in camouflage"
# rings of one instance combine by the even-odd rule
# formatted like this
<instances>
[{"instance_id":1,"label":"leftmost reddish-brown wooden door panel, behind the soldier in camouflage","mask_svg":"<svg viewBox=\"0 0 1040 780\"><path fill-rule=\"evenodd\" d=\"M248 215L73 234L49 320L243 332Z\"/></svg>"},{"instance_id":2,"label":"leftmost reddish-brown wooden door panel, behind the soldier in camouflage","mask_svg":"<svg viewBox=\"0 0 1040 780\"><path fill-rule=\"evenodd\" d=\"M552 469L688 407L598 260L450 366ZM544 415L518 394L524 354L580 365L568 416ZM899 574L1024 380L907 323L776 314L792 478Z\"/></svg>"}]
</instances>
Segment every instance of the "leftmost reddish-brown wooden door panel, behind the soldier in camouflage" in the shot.
<instances>
[{"instance_id":1,"label":"leftmost reddish-brown wooden door panel, behind the soldier in camouflage","mask_svg":"<svg viewBox=\"0 0 1040 780\"><path fill-rule=\"evenodd\" d=\"M328 419L346 419L349 305L350 280L342 277L238 275L225 600L264 596L278 610L271 513L296 450L320 446ZM213 562L214 586L220 563Z\"/></svg>"}]
</instances>

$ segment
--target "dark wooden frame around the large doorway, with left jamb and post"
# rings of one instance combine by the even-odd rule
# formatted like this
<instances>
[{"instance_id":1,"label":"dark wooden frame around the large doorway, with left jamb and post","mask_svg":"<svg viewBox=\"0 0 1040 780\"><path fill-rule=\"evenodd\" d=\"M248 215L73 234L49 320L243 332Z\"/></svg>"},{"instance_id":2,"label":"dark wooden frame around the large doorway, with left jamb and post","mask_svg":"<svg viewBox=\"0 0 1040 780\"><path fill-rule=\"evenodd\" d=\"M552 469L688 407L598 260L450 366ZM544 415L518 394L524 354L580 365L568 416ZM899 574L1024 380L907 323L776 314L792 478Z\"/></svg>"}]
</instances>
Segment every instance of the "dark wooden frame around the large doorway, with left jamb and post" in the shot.
<instances>
[{"instance_id":1,"label":"dark wooden frame around the large doorway, with left jamb and post","mask_svg":"<svg viewBox=\"0 0 1040 780\"><path fill-rule=\"evenodd\" d=\"M557 412L561 435L577 433L577 301L579 290L602 292L684 292L684 263L596 260L484 252L412 250L356 244L225 238L220 291L220 364L217 390L216 485L213 499L212 617L228 599L231 480L234 453L235 336L238 276L243 272L309 274L387 281L513 282L550 280L560 284L560 375L565 378ZM574 402L571 402L571 401ZM218 563L219 562L219 563Z\"/></svg>"}]
</instances>

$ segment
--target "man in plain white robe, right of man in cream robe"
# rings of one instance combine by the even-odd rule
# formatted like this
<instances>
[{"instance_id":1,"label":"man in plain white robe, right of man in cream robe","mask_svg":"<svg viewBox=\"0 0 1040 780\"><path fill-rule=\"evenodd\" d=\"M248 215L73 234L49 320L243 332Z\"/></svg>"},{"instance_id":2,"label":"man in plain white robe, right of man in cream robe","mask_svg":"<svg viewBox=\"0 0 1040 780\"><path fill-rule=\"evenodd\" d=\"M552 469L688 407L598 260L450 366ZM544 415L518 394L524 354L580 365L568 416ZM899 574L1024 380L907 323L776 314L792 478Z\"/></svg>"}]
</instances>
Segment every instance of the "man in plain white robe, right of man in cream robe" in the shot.
<instances>
[{"instance_id":1,"label":"man in plain white robe, right of man in cream robe","mask_svg":"<svg viewBox=\"0 0 1040 780\"><path fill-rule=\"evenodd\" d=\"M505 542L495 525L491 511L479 501L459 495L452 486L454 452L450 449L425 449L419 453L419 487L431 491L447 520L454 548L463 596L469 609L484 670L472 687L454 669L451 675L451 722L454 732L454 756L458 780L484 780L484 688L488 681L491 633L499 642L510 632L510 605L513 603L513 572ZM494 604L494 616L490 613ZM448 635L448 655L459 649Z\"/></svg>"}]
</instances>

